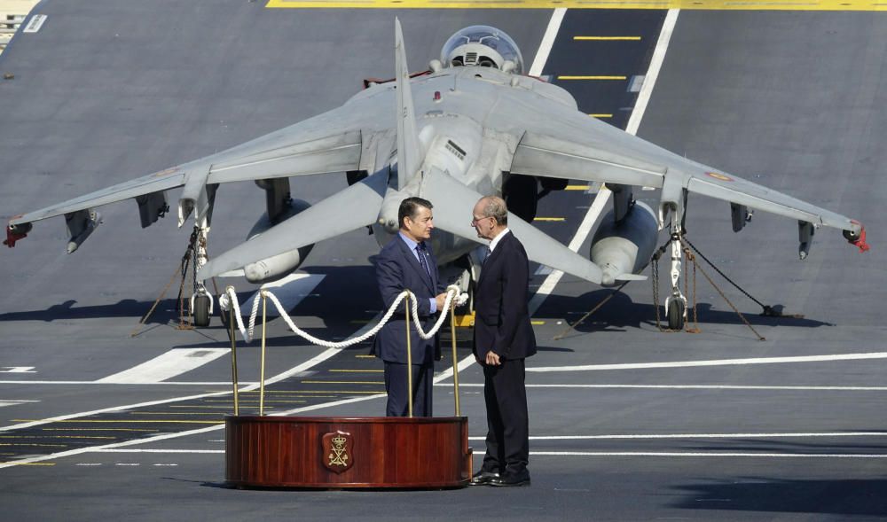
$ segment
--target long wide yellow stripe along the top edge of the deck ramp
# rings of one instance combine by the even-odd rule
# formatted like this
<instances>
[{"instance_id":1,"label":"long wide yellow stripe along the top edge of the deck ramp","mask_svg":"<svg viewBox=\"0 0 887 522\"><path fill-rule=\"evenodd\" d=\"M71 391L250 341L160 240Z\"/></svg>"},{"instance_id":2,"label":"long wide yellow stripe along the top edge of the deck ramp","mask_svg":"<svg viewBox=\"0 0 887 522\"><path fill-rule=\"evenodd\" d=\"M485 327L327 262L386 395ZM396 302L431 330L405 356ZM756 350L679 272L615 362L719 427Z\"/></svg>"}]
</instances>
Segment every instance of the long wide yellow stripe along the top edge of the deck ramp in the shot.
<instances>
[{"instance_id":1,"label":"long wide yellow stripe along the top edge of the deck ramp","mask_svg":"<svg viewBox=\"0 0 887 522\"><path fill-rule=\"evenodd\" d=\"M271 9L682 9L697 11L887 11L883 0L269 0Z\"/></svg>"}]
</instances>

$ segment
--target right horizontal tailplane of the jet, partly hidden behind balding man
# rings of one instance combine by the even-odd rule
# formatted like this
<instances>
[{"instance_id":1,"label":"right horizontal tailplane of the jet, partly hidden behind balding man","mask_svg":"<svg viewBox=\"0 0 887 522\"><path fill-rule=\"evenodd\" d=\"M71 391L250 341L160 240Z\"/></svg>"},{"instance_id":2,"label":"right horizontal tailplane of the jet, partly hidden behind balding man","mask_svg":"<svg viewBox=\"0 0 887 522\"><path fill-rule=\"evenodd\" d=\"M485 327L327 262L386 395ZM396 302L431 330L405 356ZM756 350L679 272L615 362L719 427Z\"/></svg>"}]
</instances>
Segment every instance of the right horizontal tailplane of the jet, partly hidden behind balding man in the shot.
<instances>
[{"instance_id":1,"label":"right horizontal tailplane of the jet, partly hidden behind balding man","mask_svg":"<svg viewBox=\"0 0 887 522\"><path fill-rule=\"evenodd\" d=\"M423 197L434 198L435 225L438 228L480 243L474 227L469 225L475 203L482 198L480 193L437 169L423 175L421 193ZM508 228L516 238L521 239L530 261L600 284L600 267L510 212Z\"/></svg>"}]
</instances>

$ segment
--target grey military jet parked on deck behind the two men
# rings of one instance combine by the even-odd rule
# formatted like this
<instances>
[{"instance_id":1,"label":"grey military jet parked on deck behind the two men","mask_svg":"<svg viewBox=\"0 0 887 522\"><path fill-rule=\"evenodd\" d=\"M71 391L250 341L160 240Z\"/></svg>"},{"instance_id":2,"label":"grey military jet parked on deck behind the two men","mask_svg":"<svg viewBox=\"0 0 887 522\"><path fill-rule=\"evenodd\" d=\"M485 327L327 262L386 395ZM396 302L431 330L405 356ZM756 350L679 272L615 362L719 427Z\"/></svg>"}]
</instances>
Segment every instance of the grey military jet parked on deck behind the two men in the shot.
<instances>
[{"instance_id":1,"label":"grey military jet parked on deck behind the two men","mask_svg":"<svg viewBox=\"0 0 887 522\"><path fill-rule=\"evenodd\" d=\"M506 199L509 228L530 260L598 284L643 279L640 271L667 228L672 292L665 306L671 328L680 328L686 317L678 283L688 193L728 201L737 232L754 209L797 220L801 259L820 226L843 230L850 243L867 249L860 222L687 160L579 112L566 90L524 74L521 51L497 28L459 30L421 74L409 73L405 56L395 20L394 80L366 82L365 90L337 109L227 151L16 216L4 243L12 247L33 222L64 215L72 253L101 222L95 207L136 199L145 228L169 211L166 191L183 187L178 226L194 214L198 279L242 274L262 283L298 269L318 241L350 230L371 227L384 245L398 228L401 200L420 196L435 206L438 261L455 267L459 284L468 288L483 256L469 216L477 199L495 194ZM290 199L288 178L342 172L347 189L313 206ZM571 179L606 183L613 193L590 259L530 224L540 194L563 190ZM266 212L251 238L208 259L216 190L239 181L254 181L266 191ZM655 210L634 199L638 186L661 189ZM197 284L195 323L208 324L211 308L206 287Z\"/></svg>"}]
</instances>

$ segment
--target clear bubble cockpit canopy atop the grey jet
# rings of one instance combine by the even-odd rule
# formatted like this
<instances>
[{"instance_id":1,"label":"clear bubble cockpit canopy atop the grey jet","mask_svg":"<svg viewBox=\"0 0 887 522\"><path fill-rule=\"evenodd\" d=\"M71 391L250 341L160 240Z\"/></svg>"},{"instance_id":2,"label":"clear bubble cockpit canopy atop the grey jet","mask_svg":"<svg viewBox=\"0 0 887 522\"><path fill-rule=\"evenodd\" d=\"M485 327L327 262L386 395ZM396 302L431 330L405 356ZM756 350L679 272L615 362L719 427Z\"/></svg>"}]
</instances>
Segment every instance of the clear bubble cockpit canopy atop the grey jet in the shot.
<instances>
[{"instance_id":1,"label":"clear bubble cockpit canopy atop the grey jet","mask_svg":"<svg viewBox=\"0 0 887 522\"><path fill-rule=\"evenodd\" d=\"M514 64L508 64L507 62ZM471 26L460 29L443 44L445 67L484 66L523 74L523 57L517 44L496 27Z\"/></svg>"}]
</instances>

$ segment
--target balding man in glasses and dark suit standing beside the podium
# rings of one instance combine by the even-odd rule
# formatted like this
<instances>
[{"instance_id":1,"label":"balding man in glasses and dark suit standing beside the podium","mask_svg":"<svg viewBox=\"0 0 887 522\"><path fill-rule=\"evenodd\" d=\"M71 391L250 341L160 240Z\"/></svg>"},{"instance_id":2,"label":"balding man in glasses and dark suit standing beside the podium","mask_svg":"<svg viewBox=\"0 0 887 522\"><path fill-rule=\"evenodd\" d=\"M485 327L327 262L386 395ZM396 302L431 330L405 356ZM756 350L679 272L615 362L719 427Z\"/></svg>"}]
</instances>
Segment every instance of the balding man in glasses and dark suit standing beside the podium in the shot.
<instances>
[{"instance_id":1,"label":"balding man in glasses and dark suit standing beside the podium","mask_svg":"<svg viewBox=\"0 0 887 522\"><path fill-rule=\"evenodd\" d=\"M473 485L529 486L530 422L524 359L536 354L527 308L530 263L508 230L505 201L495 196L475 205L472 226L490 240L475 286L475 359L483 365L487 406L487 453Z\"/></svg>"}]
</instances>

